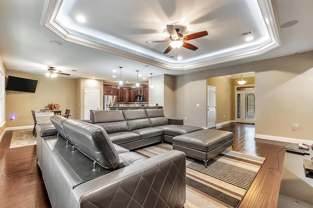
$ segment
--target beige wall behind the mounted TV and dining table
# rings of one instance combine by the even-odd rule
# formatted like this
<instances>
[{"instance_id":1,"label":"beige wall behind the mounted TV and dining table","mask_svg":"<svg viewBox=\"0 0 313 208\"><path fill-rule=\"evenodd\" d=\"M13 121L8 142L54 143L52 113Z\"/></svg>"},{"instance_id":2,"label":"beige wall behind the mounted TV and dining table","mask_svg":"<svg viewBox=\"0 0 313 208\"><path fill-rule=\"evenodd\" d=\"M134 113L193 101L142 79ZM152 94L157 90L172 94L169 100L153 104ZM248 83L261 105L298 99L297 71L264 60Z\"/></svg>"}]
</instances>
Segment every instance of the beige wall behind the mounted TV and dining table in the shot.
<instances>
[{"instance_id":1,"label":"beige wall behind the mounted TV and dining table","mask_svg":"<svg viewBox=\"0 0 313 208\"><path fill-rule=\"evenodd\" d=\"M56 77L52 81L45 75L27 74L16 71L6 71L7 76L18 76L38 80L35 93L12 93L6 91L6 127L34 125L31 110L39 112L48 103L58 103L64 113L70 109L70 118L76 119L76 79ZM15 121L9 119L15 114Z\"/></svg>"}]
</instances>

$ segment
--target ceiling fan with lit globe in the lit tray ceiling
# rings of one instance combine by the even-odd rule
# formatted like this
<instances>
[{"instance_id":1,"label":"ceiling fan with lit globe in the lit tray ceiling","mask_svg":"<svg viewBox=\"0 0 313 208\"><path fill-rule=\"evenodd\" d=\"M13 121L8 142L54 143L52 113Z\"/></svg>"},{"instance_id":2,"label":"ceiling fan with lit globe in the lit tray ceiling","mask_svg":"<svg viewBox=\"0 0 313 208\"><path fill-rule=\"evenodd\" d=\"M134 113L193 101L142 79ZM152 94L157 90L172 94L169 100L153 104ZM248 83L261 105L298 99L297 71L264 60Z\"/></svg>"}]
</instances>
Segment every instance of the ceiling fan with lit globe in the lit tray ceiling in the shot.
<instances>
[{"instance_id":1,"label":"ceiling fan with lit globe in the lit tray ceiling","mask_svg":"<svg viewBox=\"0 0 313 208\"><path fill-rule=\"evenodd\" d=\"M169 40L152 40L152 41L146 41L146 43L159 43L159 42L169 42L170 45L167 47L167 49L164 51L164 54L167 54L170 52L173 48L178 49L180 46L190 49L190 50L197 50L198 48L190 43L185 42L186 40L201 38L203 36L207 36L208 33L206 31L193 33L187 36L183 36L181 33L179 33L179 29L175 28L174 25L168 24L166 25L167 30L170 34Z\"/></svg>"}]
</instances>

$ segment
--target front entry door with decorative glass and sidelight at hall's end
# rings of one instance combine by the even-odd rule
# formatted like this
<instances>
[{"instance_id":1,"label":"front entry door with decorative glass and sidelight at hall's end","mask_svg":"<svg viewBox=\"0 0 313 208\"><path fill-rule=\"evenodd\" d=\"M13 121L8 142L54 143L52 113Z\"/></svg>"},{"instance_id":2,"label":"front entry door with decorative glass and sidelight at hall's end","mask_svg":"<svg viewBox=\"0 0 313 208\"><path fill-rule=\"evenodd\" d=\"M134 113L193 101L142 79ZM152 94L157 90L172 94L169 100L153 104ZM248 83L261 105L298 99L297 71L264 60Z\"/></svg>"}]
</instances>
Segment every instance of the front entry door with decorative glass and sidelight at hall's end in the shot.
<instances>
[{"instance_id":1,"label":"front entry door with decorative glass and sidelight at hall's end","mask_svg":"<svg viewBox=\"0 0 313 208\"><path fill-rule=\"evenodd\" d=\"M255 93L252 91L236 91L235 93L235 121L241 123L255 123Z\"/></svg>"}]
</instances>

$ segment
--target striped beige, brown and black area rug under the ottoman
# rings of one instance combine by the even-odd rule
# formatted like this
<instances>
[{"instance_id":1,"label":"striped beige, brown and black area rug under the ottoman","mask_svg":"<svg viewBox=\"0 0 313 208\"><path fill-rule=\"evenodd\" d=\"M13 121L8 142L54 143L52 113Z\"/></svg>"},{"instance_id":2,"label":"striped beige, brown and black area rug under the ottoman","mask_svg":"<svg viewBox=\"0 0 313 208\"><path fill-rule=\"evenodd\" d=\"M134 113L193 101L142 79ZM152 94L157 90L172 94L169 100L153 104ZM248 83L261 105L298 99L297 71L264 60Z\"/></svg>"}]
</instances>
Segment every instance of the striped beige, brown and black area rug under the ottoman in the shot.
<instances>
[{"instance_id":1,"label":"striped beige, brown and black area rug under the ottoman","mask_svg":"<svg viewBox=\"0 0 313 208\"><path fill-rule=\"evenodd\" d=\"M158 144L136 150L153 157L172 150L170 144ZM236 208L249 189L266 158L225 150L204 162L186 159L185 208Z\"/></svg>"}]
</instances>

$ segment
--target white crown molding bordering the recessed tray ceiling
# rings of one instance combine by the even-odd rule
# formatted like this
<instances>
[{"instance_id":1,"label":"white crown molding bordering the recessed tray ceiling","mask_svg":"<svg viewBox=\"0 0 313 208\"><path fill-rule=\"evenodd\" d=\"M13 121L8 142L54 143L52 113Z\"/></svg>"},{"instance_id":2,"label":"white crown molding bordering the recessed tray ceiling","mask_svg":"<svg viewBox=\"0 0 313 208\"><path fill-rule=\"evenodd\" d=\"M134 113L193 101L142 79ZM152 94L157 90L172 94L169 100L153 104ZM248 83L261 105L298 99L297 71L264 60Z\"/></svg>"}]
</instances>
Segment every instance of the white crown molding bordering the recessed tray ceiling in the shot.
<instances>
[{"instance_id":1,"label":"white crown molding bordering the recessed tray ceiling","mask_svg":"<svg viewBox=\"0 0 313 208\"><path fill-rule=\"evenodd\" d=\"M167 70L192 70L200 67L220 64L224 62L234 61L238 59L243 59L247 57L259 56L267 53L270 50L273 50L276 47L281 45L279 38L279 30L277 28L276 21L274 19L274 9L272 7L270 0L258 0L258 4L262 11L262 15L265 19L268 33L270 36L270 40L265 43L263 46L248 50L242 53L237 53L229 56L219 57L219 58L211 58L205 57L194 61L189 61L185 63L177 63L171 64L165 60L158 59L156 57L150 57L146 54L142 54L138 51L132 51L130 49L123 48L122 46L114 45L110 42L106 42L105 40L92 40L95 38L86 38L85 34L74 34L70 30L66 30L65 27L61 25L56 20L56 16L60 10L63 0L46 0L45 10L42 16L41 24L55 33L58 37L63 39L64 41L69 41L72 43L76 43L79 45L83 45L89 48L93 48L96 50L100 50L103 52L107 52L119 57L125 57L131 60L139 61L145 64L149 64L152 66L160 67ZM84 37L85 35L85 37ZM104 43L103 43L104 42Z\"/></svg>"}]
</instances>

